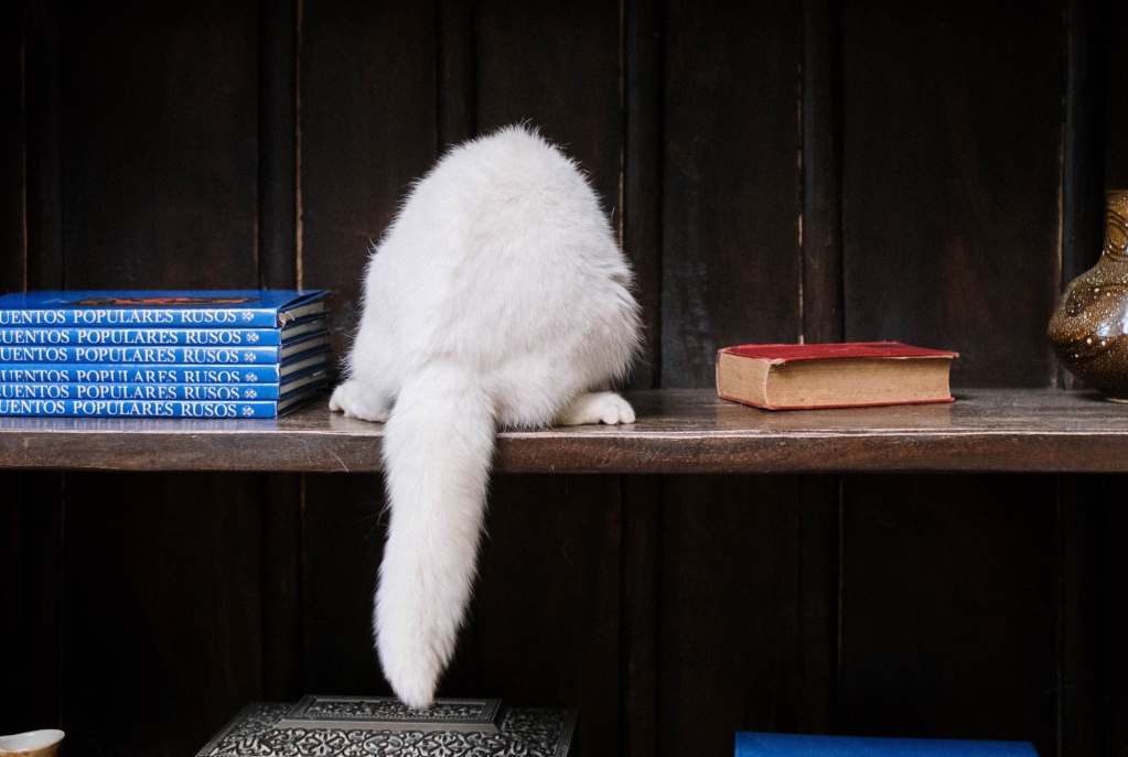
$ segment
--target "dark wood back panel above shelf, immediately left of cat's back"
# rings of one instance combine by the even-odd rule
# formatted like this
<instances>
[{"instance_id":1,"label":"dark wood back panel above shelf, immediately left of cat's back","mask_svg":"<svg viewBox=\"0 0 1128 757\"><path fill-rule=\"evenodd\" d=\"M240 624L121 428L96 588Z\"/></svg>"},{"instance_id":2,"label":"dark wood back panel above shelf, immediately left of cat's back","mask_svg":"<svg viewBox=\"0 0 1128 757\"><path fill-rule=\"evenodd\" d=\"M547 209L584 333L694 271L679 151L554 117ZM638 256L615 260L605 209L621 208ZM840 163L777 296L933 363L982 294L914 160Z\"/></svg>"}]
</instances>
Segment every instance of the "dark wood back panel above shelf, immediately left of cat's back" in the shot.
<instances>
[{"instance_id":1,"label":"dark wood back panel above shelf, immediately left of cat's back","mask_svg":"<svg viewBox=\"0 0 1128 757\"><path fill-rule=\"evenodd\" d=\"M336 292L341 357L369 246L435 157L435 15L407 1L302 8L299 280Z\"/></svg>"}]
</instances>

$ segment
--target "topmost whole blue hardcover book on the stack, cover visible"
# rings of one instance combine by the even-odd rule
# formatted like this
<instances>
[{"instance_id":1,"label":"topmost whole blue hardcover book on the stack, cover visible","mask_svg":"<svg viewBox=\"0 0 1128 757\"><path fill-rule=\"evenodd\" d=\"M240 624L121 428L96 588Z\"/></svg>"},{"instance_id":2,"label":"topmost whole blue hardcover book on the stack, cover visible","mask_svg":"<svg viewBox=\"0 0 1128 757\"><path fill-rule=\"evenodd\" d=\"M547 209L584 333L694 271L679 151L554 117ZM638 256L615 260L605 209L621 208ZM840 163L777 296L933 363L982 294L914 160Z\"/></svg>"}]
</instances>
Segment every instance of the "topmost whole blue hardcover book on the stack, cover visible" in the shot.
<instances>
[{"instance_id":1,"label":"topmost whole blue hardcover book on the stack, cover visible","mask_svg":"<svg viewBox=\"0 0 1128 757\"><path fill-rule=\"evenodd\" d=\"M325 312L320 290L27 292L0 296L0 326L274 329Z\"/></svg>"}]
</instances>

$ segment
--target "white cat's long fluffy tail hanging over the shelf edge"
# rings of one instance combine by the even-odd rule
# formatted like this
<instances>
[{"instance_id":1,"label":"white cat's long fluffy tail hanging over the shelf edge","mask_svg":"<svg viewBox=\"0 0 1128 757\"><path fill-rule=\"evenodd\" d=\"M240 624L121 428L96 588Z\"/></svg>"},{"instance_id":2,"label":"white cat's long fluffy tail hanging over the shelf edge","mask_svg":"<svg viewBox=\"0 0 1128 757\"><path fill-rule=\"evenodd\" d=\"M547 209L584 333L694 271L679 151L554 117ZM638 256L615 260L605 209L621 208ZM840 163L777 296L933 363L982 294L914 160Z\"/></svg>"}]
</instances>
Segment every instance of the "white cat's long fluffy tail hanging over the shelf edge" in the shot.
<instances>
[{"instance_id":1,"label":"white cat's long fluffy tail hanging over the shelf edge","mask_svg":"<svg viewBox=\"0 0 1128 757\"><path fill-rule=\"evenodd\" d=\"M400 389L385 430L391 504L373 617L396 695L426 706L470 597L493 455L493 404L475 375L440 363Z\"/></svg>"}]
</instances>

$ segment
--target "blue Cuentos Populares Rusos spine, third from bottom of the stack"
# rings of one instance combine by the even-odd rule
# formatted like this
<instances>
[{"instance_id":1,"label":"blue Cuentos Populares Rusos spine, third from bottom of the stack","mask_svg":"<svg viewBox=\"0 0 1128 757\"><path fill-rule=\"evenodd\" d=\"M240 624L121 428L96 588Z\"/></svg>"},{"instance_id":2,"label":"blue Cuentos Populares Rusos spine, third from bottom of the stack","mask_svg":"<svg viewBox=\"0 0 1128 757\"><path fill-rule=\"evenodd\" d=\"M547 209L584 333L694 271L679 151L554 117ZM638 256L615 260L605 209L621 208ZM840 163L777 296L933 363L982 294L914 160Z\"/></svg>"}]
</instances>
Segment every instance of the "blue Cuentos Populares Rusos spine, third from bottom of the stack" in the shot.
<instances>
[{"instance_id":1,"label":"blue Cuentos Populares Rusos spine, third from bottom of the stack","mask_svg":"<svg viewBox=\"0 0 1128 757\"><path fill-rule=\"evenodd\" d=\"M268 384L277 365L0 364L0 382L15 384Z\"/></svg>"}]
</instances>

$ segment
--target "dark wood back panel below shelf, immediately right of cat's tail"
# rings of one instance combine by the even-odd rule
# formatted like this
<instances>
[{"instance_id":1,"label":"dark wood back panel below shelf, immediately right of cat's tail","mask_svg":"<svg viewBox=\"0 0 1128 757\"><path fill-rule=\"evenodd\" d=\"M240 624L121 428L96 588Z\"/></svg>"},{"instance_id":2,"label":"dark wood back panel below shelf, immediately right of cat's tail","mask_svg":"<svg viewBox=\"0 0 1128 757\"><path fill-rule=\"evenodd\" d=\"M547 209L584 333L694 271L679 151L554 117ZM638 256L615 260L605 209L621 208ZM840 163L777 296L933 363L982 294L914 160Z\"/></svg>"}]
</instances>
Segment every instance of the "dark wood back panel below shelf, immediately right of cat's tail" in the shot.
<instances>
[{"instance_id":1,"label":"dark wood back panel below shelf, immediately right of cat's tail","mask_svg":"<svg viewBox=\"0 0 1128 757\"><path fill-rule=\"evenodd\" d=\"M472 687L451 694L580 710L580 750L619 755L622 507L606 477L492 484Z\"/></svg>"}]
</instances>

